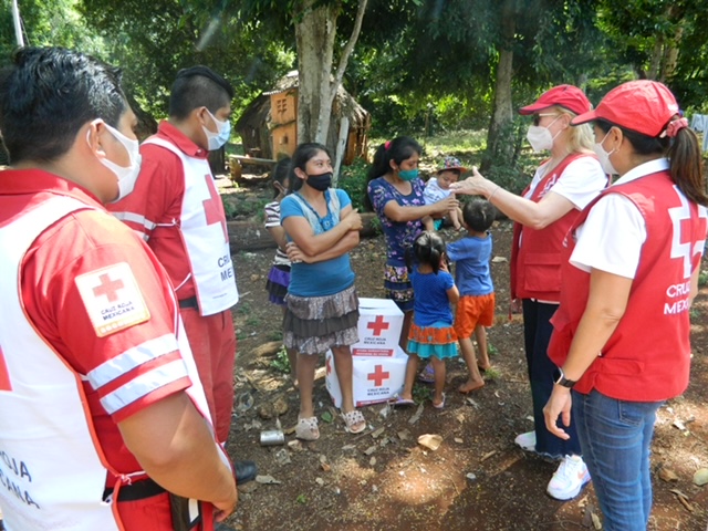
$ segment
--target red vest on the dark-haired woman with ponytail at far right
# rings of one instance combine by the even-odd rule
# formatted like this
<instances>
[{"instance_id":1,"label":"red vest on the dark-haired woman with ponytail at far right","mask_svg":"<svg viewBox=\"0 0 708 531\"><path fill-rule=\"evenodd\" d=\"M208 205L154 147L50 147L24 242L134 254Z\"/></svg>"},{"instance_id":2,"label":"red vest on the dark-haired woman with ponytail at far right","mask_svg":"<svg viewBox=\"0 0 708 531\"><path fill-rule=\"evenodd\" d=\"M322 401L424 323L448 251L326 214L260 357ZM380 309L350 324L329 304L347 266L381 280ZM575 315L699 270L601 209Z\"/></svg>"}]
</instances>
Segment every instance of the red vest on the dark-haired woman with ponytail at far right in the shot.
<instances>
[{"instance_id":1,"label":"red vest on the dark-haired woman with ponytail at far right","mask_svg":"<svg viewBox=\"0 0 708 531\"><path fill-rule=\"evenodd\" d=\"M689 201L667 171L615 185L600 197L605 194L622 194L636 205L647 237L626 311L602 354L574 388L585 394L595 388L621 400L665 400L680 395L688 385L690 275L706 243L706 208ZM575 247L575 229L595 201L568 235L566 258ZM554 330L549 345L549 357L558 366L568 357L589 290L590 273L565 260L561 305L551 319Z\"/></svg>"}]
</instances>

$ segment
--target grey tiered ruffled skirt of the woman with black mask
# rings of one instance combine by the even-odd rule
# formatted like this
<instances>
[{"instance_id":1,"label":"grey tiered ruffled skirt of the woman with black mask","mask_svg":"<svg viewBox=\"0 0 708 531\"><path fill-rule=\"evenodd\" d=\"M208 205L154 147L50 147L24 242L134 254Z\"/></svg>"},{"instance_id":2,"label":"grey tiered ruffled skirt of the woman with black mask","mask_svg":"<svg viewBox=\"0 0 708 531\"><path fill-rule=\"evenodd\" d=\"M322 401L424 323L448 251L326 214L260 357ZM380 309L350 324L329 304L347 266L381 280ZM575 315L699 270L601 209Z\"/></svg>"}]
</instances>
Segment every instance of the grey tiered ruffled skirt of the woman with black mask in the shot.
<instances>
[{"instance_id":1,"label":"grey tiered ruffled skirt of the woman with black mask","mask_svg":"<svg viewBox=\"0 0 708 531\"><path fill-rule=\"evenodd\" d=\"M358 341L358 298L354 285L333 295L288 293L283 344L300 354L322 354Z\"/></svg>"}]
</instances>

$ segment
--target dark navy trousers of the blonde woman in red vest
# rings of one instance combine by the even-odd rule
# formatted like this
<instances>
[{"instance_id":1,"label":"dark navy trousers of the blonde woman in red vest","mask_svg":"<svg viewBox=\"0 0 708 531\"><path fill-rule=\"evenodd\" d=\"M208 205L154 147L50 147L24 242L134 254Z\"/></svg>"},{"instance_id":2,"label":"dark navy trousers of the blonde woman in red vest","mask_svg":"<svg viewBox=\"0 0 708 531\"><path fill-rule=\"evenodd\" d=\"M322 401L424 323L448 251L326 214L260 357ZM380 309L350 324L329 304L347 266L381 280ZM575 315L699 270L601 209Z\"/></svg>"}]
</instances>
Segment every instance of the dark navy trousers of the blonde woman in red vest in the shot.
<instances>
[{"instance_id":1,"label":"dark navy trousers of the blonde woman in red vest","mask_svg":"<svg viewBox=\"0 0 708 531\"><path fill-rule=\"evenodd\" d=\"M553 325L551 317L558 304L523 299L523 341L527 351L527 365L529 368L529 383L531 384L531 399L533 400L533 427L535 430L535 451L553 458L564 456L580 456L581 447L575 430L575 420L571 415L571 425L563 426L558 421L570 439L563 440L545 428L543 407L551 397L553 391L553 372L555 364L548 355L549 342Z\"/></svg>"}]
</instances>

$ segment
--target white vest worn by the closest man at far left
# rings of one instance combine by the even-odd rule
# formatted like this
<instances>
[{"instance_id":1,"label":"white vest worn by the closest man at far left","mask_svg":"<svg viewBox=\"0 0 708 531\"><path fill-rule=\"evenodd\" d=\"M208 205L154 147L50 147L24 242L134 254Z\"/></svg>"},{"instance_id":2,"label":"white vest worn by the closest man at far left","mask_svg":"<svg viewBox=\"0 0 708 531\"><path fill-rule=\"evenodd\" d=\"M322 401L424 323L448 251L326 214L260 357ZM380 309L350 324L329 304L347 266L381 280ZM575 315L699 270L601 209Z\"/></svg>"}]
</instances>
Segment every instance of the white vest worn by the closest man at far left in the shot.
<instances>
[{"instance_id":1,"label":"white vest worn by the closest man at far left","mask_svg":"<svg viewBox=\"0 0 708 531\"><path fill-rule=\"evenodd\" d=\"M0 392L0 506L7 531L117 531L101 500L101 464L81 399L81 379L24 317L19 270L51 223L91 208L58 197L0 228L0 339L12 391Z\"/></svg>"}]
</instances>

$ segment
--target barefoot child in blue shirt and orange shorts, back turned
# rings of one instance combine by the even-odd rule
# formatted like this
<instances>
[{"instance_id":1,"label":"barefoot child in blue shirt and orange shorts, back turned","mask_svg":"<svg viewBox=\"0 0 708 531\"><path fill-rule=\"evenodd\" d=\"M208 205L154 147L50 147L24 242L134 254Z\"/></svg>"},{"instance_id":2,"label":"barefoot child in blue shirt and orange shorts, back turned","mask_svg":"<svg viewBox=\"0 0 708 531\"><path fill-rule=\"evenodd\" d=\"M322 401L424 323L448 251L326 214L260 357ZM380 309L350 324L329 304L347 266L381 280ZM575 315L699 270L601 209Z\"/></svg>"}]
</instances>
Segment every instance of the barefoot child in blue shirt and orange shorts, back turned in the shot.
<instances>
[{"instance_id":1,"label":"barefoot child in blue shirt and orange shorts, back turned","mask_svg":"<svg viewBox=\"0 0 708 531\"><path fill-rule=\"evenodd\" d=\"M494 285L489 267L492 249L489 228L494 215L494 207L488 200L468 201L462 209L467 236L447 246L447 254L455 262L455 281L460 290L455 332L469 372L467 382L458 389L465 394L485 386L479 372L491 366L485 326L491 326L494 322ZM472 333L479 346L479 360L475 356Z\"/></svg>"}]
</instances>

